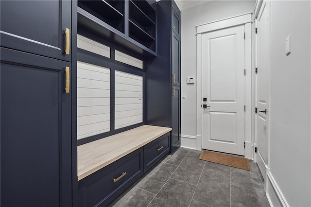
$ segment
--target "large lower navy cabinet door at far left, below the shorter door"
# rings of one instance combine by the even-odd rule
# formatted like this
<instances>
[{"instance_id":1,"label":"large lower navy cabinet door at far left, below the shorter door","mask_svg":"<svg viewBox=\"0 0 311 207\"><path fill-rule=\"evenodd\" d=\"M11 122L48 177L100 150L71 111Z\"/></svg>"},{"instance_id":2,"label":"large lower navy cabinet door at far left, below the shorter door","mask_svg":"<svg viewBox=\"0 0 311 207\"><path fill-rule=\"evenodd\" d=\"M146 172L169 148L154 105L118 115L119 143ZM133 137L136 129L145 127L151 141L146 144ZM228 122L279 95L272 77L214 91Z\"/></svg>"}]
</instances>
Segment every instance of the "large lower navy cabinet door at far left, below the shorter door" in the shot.
<instances>
[{"instance_id":1,"label":"large lower navy cabinet door at far left, below the shorter door","mask_svg":"<svg viewBox=\"0 0 311 207\"><path fill-rule=\"evenodd\" d=\"M0 206L72 206L70 63L0 52Z\"/></svg>"}]
</instances>

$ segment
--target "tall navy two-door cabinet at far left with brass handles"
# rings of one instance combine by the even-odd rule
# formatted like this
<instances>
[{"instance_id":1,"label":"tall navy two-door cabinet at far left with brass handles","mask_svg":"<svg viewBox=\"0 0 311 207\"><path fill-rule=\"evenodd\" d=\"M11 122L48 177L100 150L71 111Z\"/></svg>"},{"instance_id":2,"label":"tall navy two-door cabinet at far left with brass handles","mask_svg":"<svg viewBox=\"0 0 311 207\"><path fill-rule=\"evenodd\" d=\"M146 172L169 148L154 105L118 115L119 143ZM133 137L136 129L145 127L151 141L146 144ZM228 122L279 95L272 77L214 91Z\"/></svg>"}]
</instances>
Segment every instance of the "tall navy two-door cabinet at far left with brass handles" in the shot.
<instances>
[{"instance_id":1,"label":"tall navy two-door cabinet at far left with brass handles","mask_svg":"<svg viewBox=\"0 0 311 207\"><path fill-rule=\"evenodd\" d=\"M0 206L74 205L72 4L0 2Z\"/></svg>"}]
</instances>

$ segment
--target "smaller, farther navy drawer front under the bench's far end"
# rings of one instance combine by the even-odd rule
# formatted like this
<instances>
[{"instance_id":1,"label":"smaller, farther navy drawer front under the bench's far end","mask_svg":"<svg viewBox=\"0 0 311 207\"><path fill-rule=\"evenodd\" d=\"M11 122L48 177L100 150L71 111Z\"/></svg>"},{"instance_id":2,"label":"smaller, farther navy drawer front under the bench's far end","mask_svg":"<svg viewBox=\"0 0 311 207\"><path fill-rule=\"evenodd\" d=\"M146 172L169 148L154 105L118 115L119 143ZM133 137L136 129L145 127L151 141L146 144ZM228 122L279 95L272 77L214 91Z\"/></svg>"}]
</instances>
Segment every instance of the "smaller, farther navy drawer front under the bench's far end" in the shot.
<instances>
[{"instance_id":1,"label":"smaller, farther navy drawer front under the bench's far end","mask_svg":"<svg viewBox=\"0 0 311 207\"><path fill-rule=\"evenodd\" d=\"M144 146L144 172L170 151L170 132Z\"/></svg>"}]
</instances>

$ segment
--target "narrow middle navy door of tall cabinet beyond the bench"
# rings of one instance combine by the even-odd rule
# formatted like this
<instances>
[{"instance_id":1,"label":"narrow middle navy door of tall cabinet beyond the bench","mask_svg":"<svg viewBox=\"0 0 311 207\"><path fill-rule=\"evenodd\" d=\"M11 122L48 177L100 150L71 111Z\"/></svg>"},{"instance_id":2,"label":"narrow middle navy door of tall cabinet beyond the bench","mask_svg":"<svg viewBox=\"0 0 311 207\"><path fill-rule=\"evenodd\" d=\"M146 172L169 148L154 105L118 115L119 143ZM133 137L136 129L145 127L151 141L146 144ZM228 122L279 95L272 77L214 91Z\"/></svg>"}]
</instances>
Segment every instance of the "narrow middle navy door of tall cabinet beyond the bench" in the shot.
<instances>
[{"instance_id":1,"label":"narrow middle navy door of tall cabinet beyond the bench","mask_svg":"<svg viewBox=\"0 0 311 207\"><path fill-rule=\"evenodd\" d=\"M172 83L180 86L180 38L172 32Z\"/></svg>"}]
</instances>

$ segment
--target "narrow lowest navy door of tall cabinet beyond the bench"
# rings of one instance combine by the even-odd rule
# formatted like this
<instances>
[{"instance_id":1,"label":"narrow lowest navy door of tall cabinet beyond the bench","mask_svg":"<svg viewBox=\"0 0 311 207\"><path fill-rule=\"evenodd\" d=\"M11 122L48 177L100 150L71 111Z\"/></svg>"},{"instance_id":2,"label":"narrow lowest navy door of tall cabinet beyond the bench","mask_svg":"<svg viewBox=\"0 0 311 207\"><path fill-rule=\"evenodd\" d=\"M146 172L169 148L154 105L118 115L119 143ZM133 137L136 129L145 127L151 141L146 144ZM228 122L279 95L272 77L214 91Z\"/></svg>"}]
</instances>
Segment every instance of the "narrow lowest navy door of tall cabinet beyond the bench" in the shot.
<instances>
[{"instance_id":1,"label":"narrow lowest navy door of tall cabinet beyond the bench","mask_svg":"<svg viewBox=\"0 0 311 207\"><path fill-rule=\"evenodd\" d=\"M173 86L172 96L172 151L173 154L180 147L180 87Z\"/></svg>"}]
</instances>

